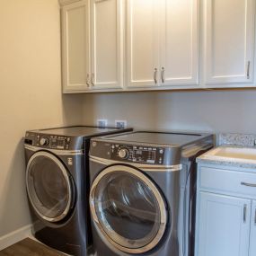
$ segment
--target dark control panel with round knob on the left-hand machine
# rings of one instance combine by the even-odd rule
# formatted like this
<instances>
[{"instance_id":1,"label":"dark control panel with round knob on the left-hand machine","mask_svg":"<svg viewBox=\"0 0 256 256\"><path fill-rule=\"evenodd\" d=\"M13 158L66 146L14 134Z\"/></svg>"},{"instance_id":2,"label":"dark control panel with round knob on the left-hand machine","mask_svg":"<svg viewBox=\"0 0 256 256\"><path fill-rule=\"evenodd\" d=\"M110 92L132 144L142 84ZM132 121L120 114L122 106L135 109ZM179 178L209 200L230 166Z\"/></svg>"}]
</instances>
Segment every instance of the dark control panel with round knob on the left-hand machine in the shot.
<instances>
[{"instance_id":1,"label":"dark control panel with round knob on the left-hand machine","mask_svg":"<svg viewBox=\"0 0 256 256\"><path fill-rule=\"evenodd\" d=\"M25 143L31 146L40 146L42 148L67 150L70 145L70 137L44 135L44 134L28 134Z\"/></svg>"}]
</instances>

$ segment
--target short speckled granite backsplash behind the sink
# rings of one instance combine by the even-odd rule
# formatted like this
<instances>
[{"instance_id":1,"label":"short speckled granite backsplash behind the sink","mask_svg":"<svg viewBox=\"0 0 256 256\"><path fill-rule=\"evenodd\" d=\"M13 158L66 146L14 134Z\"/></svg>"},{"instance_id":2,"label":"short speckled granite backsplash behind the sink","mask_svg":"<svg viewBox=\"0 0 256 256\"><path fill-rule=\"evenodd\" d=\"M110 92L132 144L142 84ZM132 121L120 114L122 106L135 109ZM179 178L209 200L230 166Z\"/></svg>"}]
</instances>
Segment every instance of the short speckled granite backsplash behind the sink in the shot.
<instances>
[{"instance_id":1,"label":"short speckled granite backsplash behind the sink","mask_svg":"<svg viewBox=\"0 0 256 256\"><path fill-rule=\"evenodd\" d=\"M256 135L239 133L220 133L216 136L216 145L255 146Z\"/></svg>"}]
</instances>

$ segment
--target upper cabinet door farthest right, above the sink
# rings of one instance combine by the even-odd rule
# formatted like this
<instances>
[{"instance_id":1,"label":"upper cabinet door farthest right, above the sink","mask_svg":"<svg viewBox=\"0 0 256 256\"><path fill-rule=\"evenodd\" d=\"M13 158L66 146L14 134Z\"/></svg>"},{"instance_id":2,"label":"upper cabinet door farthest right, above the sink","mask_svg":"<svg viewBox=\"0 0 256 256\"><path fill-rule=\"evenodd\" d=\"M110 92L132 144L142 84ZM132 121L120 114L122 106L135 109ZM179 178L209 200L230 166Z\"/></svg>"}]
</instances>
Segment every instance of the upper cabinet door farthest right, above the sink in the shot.
<instances>
[{"instance_id":1,"label":"upper cabinet door farthest right, above the sink","mask_svg":"<svg viewBox=\"0 0 256 256\"><path fill-rule=\"evenodd\" d=\"M206 84L252 83L254 0L205 4Z\"/></svg>"}]
</instances>

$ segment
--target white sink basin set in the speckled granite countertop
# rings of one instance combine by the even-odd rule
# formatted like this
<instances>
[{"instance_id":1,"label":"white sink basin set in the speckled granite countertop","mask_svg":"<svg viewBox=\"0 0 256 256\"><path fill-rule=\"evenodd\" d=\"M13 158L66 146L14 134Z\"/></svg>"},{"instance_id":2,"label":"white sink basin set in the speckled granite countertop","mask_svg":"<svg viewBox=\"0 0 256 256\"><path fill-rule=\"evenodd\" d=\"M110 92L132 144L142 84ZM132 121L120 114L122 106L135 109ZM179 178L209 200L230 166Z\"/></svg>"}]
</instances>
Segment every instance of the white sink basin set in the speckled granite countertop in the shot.
<instances>
[{"instance_id":1,"label":"white sink basin set in the speckled granite countertop","mask_svg":"<svg viewBox=\"0 0 256 256\"><path fill-rule=\"evenodd\" d=\"M256 161L256 148L220 146L209 151L207 156Z\"/></svg>"}]
</instances>

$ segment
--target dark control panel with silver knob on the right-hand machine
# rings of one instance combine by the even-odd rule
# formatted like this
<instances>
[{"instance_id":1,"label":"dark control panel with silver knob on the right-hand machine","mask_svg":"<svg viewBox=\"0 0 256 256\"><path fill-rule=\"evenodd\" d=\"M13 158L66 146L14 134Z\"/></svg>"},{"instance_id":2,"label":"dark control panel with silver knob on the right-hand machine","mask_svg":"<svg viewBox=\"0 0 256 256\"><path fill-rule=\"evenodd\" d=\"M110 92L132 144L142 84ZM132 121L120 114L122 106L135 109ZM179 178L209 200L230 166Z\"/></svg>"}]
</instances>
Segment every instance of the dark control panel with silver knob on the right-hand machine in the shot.
<instances>
[{"instance_id":1,"label":"dark control panel with silver knob on the right-hand machine","mask_svg":"<svg viewBox=\"0 0 256 256\"><path fill-rule=\"evenodd\" d=\"M112 160L127 160L134 163L162 164L164 156L163 147L131 146L112 144L110 158Z\"/></svg>"}]
</instances>

